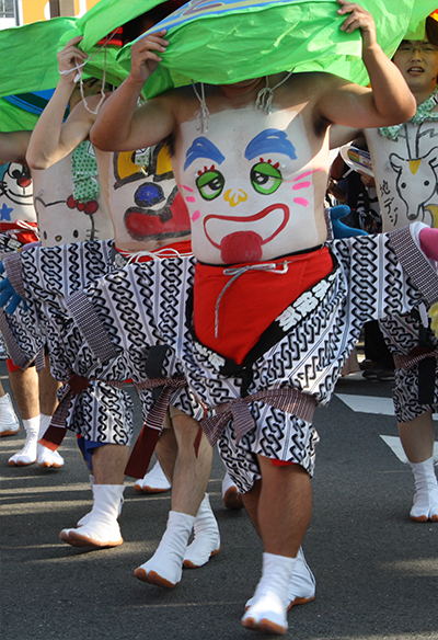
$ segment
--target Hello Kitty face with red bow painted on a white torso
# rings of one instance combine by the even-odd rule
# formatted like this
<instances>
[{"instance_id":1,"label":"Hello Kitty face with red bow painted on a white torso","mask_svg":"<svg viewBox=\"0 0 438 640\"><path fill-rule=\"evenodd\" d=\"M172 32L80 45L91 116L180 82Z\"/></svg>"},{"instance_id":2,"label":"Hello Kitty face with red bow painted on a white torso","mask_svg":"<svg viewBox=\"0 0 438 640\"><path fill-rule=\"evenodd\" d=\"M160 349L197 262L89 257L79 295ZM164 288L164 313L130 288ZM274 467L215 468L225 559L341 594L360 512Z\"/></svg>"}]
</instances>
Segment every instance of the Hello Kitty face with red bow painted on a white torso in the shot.
<instances>
[{"instance_id":1,"label":"Hello Kitty face with red bow painted on a white torso","mask_svg":"<svg viewBox=\"0 0 438 640\"><path fill-rule=\"evenodd\" d=\"M114 238L102 192L85 205L74 201L70 156L44 171L33 171L32 178L43 247Z\"/></svg>"}]
</instances>

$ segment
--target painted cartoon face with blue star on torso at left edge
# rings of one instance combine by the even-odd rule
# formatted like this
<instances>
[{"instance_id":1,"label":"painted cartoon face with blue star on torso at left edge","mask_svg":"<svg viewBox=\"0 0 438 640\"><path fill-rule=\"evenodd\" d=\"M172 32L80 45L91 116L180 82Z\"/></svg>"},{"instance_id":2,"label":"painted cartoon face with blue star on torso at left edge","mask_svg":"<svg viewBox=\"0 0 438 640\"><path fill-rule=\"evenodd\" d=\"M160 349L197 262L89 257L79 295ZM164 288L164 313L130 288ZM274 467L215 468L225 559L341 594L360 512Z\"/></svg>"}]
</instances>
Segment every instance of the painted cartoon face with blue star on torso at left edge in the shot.
<instances>
[{"instance_id":1,"label":"painted cartoon face with blue star on torso at left edge","mask_svg":"<svg viewBox=\"0 0 438 640\"><path fill-rule=\"evenodd\" d=\"M27 167L10 162L0 167L0 222L35 222L33 185Z\"/></svg>"}]
</instances>

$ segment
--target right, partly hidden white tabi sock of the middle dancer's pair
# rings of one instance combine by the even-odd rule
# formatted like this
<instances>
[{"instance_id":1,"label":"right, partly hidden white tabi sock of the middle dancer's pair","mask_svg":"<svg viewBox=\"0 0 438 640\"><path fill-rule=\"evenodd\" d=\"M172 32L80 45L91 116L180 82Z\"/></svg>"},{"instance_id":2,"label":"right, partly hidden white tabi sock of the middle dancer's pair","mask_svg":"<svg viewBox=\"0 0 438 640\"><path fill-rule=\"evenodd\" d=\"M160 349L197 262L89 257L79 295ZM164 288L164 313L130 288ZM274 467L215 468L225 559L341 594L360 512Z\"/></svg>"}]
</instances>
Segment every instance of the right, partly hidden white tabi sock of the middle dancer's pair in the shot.
<instances>
[{"instance_id":1,"label":"right, partly hidden white tabi sock of the middle dancer's pair","mask_svg":"<svg viewBox=\"0 0 438 640\"><path fill-rule=\"evenodd\" d=\"M199 505L193 532L194 540L185 550L184 567L196 569L206 564L220 549L219 527L211 511L208 493Z\"/></svg>"}]
</instances>

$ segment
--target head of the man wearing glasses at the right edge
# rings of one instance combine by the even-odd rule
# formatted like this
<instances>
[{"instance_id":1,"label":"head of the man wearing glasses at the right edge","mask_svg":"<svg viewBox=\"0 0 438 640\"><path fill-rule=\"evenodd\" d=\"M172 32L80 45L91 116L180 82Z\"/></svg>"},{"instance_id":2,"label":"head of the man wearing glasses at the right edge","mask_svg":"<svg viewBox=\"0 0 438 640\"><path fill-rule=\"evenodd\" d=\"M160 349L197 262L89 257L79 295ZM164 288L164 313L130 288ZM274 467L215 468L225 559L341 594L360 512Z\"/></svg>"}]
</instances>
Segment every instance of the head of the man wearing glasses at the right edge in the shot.
<instances>
[{"instance_id":1,"label":"head of the man wearing glasses at the right edge","mask_svg":"<svg viewBox=\"0 0 438 640\"><path fill-rule=\"evenodd\" d=\"M436 88L438 77L438 23L426 20L426 35L422 41L402 41L392 58L417 102L423 102ZM419 99L419 100L418 100Z\"/></svg>"}]
</instances>

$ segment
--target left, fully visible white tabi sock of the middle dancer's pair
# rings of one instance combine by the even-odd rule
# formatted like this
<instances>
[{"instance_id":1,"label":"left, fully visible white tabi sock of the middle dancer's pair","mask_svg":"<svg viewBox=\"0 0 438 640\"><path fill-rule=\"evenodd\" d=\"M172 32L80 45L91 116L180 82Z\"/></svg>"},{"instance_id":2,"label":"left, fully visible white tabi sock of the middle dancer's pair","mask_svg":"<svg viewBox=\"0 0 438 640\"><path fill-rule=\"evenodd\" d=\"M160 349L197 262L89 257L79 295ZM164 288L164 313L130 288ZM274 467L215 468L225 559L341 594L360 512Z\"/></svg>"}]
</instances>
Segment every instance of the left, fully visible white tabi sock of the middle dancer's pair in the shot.
<instances>
[{"instance_id":1,"label":"left, fully visible white tabi sock of the middle dancer's pair","mask_svg":"<svg viewBox=\"0 0 438 640\"><path fill-rule=\"evenodd\" d=\"M152 558L138 567L134 575L143 582L175 586L183 574L184 553L195 522L193 515L171 511L168 526Z\"/></svg>"}]
</instances>

